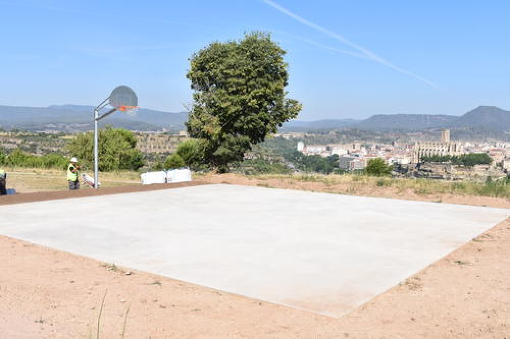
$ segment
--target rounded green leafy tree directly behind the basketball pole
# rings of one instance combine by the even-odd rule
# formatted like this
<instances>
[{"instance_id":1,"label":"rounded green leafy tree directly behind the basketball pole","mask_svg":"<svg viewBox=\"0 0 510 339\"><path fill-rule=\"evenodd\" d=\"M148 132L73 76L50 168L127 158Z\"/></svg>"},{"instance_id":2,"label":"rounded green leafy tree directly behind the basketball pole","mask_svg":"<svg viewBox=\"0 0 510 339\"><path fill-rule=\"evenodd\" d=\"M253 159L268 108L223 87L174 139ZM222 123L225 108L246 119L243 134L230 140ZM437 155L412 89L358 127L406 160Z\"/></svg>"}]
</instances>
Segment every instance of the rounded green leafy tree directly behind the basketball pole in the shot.
<instances>
[{"instance_id":1,"label":"rounded green leafy tree directly behind the basketball pole","mask_svg":"<svg viewBox=\"0 0 510 339\"><path fill-rule=\"evenodd\" d=\"M136 149L136 136L123 128L107 127L99 130L99 171L138 170L144 164L143 154ZM77 135L66 151L78 157L80 163L92 168L94 162L94 133Z\"/></svg>"}]
</instances>

